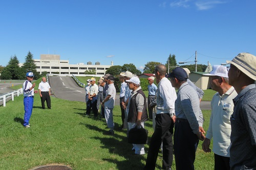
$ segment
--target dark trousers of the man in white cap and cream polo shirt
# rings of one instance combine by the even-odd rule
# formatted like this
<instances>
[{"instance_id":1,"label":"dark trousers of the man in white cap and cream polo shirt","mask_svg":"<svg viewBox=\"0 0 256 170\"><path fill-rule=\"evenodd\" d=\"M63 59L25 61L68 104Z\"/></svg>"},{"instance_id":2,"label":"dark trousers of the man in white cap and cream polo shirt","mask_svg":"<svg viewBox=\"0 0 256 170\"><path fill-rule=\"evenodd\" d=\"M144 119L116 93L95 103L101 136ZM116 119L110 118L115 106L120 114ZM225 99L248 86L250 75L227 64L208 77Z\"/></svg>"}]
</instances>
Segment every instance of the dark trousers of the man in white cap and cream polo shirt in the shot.
<instances>
[{"instance_id":1,"label":"dark trousers of the man in white cap and cream polo shirt","mask_svg":"<svg viewBox=\"0 0 256 170\"><path fill-rule=\"evenodd\" d=\"M215 170L229 170L229 157L214 154L214 169Z\"/></svg>"}]
</instances>

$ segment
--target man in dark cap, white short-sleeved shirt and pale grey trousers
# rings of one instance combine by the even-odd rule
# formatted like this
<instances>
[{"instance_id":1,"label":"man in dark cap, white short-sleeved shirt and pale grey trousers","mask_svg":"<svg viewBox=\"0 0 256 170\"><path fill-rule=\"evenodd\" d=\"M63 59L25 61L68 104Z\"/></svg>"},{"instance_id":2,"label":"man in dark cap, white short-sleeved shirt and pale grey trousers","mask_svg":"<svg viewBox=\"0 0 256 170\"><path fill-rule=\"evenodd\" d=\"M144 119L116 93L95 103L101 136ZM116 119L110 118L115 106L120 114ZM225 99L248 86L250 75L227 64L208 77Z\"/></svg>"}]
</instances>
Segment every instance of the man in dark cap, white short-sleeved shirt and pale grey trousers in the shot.
<instances>
[{"instance_id":1,"label":"man in dark cap, white short-sleeved shirt and pale grey trousers","mask_svg":"<svg viewBox=\"0 0 256 170\"><path fill-rule=\"evenodd\" d=\"M116 98L116 88L114 86L114 80L115 78L110 75L106 78L106 81L108 81L109 89L108 93L106 94L105 99L102 102L102 106L105 108L105 119L106 119L106 125L108 125L109 135L114 135L114 119L113 119L113 109L115 105L115 98Z\"/></svg>"}]
</instances>

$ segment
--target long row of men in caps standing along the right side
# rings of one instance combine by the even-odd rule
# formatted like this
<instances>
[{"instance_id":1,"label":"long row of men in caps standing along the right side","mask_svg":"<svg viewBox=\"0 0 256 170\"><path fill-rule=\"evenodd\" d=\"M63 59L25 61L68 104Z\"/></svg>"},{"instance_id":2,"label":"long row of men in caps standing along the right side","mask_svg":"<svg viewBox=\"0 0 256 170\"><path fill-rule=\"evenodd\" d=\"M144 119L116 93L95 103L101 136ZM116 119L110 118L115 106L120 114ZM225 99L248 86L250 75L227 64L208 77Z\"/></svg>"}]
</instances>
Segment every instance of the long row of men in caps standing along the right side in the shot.
<instances>
[{"instance_id":1,"label":"long row of men in caps standing along the right side","mask_svg":"<svg viewBox=\"0 0 256 170\"><path fill-rule=\"evenodd\" d=\"M128 135L132 128L144 128L148 119L153 120L154 133L144 169L155 169L160 148L162 169L172 169L173 154L176 169L195 169L199 140L203 141L203 151L211 152L212 138L215 170L256 169L256 57L241 53L227 63L230 66L214 65L212 71L205 74L210 78L211 89L216 91L211 100L206 136L200 109L204 92L189 80L188 69L176 67L166 74L166 67L157 65L155 77L147 79L147 104L140 79L130 71L120 73L121 128L126 128ZM155 79L158 85L154 84ZM110 135L114 135L114 80L106 74L98 81L97 90L94 78L88 82L95 88L86 87L91 99L87 107L95 108L96 113L101 104L101 115L106 119ZM97 94L98 102L94 103ZM137 155L145 154L144 144L133 144L132 150Z\"/></svg>"}]
</instances>

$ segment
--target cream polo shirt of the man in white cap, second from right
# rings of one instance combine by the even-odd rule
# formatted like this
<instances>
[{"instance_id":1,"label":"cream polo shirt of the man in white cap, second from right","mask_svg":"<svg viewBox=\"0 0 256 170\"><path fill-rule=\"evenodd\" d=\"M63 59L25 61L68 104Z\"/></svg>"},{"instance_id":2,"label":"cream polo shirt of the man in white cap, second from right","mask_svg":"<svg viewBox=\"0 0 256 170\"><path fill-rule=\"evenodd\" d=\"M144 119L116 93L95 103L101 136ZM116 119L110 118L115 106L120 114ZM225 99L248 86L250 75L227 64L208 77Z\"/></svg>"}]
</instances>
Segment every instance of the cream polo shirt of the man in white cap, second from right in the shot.
<instances>
[{"instance_id":1,"label":"cream polo shirt of the man in white cap, second from right","mask_svg":"<svg viewBox=\"0 0 256 170\"><path fill-rule=\"evenodd\" d=\"M212 151L220 156L229 157L230 148L230 116L233 113L233 99L238 93L230 87L224 94L217 92L211 100L211 115L206 138L214 137Z\"/></svg>"}]
</instances>

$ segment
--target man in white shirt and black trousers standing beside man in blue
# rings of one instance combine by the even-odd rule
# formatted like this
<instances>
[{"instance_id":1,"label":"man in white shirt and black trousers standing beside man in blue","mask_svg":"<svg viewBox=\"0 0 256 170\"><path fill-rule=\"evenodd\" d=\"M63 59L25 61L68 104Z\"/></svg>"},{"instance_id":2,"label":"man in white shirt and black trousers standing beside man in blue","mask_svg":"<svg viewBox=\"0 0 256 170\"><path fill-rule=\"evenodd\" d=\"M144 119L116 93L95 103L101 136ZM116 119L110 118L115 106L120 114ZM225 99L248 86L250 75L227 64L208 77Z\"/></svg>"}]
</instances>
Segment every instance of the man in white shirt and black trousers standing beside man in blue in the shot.
<instances>
[{"instance_id":1,"label":"man in white shirt and black trousers standing beside man in blue","mask_svg":"<svg viewBox=\"0 0 256 170\"><path fill-rule=\"evenodd\" d=\"M48 109L51 109L51 87L48 82L46 82L46 78L43 77L41 83L39 83L38 86L39 89L39 94L41 97L41 104L42 104L42 109L46 109L45 107L45 101L47 104Z\"/></svg>"}]
</instances>

